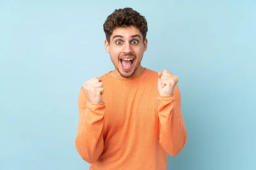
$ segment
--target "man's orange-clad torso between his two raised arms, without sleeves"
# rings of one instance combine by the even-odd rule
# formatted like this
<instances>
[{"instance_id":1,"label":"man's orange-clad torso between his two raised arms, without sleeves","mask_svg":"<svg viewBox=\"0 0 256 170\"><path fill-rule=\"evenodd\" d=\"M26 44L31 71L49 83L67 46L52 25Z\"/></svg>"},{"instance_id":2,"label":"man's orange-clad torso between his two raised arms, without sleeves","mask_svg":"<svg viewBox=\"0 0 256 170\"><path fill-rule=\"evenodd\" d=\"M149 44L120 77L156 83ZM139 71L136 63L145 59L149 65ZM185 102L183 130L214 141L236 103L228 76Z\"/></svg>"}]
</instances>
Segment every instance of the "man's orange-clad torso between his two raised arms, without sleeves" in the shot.
<instances>
[{"instance_id":1,"label":"man's orange-clad torso between his two raised arms, without sleeves","mask_svg":"<svg viewBox=\"0 0 256 170\"><path fill-rule=\"evenodd\" d=\"M159 147L157 73L151 71L148 77L147 72L143 74L132 81L109 78L110 75L105 75L107 79L101 77L106 111L104 150L98 164L106 159L110 162L119 160L124 165L133 164L136 159L131 158L140 158L149 167L156 167L157 163L152 159L157 159L154 156L157 156ZM148 152L152 155L146 156ZM113 157L106 157L105 153Z\"/></svg>"}]
</instances>

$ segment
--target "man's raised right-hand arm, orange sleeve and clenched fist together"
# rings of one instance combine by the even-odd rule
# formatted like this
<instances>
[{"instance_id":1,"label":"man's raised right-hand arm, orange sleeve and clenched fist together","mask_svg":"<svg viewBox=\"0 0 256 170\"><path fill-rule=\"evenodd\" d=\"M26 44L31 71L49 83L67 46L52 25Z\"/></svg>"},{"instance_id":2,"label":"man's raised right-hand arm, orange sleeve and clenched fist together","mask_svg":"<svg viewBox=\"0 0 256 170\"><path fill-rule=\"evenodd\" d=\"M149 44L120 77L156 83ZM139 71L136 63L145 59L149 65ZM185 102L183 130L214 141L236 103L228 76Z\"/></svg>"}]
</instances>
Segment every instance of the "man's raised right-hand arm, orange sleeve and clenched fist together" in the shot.
<instances>
[{"instance_id":1,"label":"man's raised right-hand arm, orange sleeve and clenched fist together","mask_svg":"<svg viewBox=\"0 0 256 170\"><path fill-rule=\"evenodd\" d=\"M160 121L160 144L171 156L183 150L187 133L181 113L179 78L166 69L158 73L158 116Z\"/></svg>"}]
</instances>

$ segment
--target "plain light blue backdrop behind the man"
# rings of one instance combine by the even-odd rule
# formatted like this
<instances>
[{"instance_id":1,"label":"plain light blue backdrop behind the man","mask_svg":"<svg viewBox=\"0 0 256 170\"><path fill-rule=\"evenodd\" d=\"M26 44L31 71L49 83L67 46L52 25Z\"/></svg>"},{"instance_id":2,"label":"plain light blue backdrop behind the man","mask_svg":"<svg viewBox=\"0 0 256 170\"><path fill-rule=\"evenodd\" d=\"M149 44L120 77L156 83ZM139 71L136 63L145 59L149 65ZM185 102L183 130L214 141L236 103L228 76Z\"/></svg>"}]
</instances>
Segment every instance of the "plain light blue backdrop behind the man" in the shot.
<instances>
[{"instance_id":1,"label":"plain light blue backdrop behind the man","mask_svg":"<svg viewBox=\"0 0 256 170\"><path fill-rule=\"evenodd\" d=\"M256 170L255 0L0 0L0 170L88 170L77 100L113 70L103 23L148 20L142 65L180 78L187 142L168 170Z\"/></svg>"}]
</instances>

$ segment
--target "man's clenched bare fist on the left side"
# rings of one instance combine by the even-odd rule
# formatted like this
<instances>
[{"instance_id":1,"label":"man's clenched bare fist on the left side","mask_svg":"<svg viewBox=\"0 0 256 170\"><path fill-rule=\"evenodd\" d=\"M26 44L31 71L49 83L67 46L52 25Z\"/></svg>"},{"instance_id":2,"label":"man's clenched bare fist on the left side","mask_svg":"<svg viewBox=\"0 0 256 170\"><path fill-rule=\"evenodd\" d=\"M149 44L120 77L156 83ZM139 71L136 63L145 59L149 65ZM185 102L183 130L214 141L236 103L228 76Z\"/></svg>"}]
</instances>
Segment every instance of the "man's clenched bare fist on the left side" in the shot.
<instances>
[{"instance_id":1,"label":"man's clenched bare fist on the left side","mask_svg":"<svg viewBox=\"0 0 256 170\"><path fill-rule=\"evenodd\" d=\"M84 83L84 92L89 102L93 104L103 103L102 94L104 92L102 79L94 77Z\"/></svg>"}]
</instances>

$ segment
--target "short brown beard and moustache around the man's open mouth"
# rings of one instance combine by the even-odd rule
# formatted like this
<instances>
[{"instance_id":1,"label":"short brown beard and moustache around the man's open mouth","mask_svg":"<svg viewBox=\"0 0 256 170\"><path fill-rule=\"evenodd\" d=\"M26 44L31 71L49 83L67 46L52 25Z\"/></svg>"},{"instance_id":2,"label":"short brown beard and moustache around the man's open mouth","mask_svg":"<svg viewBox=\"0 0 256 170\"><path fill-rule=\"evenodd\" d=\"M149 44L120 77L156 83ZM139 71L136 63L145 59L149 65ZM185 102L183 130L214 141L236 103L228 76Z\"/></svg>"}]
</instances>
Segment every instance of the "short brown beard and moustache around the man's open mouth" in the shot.
<instances>
[{"instance_id":1,"label":"short brown beard and moustache around the man's open mouth","mask_svg":"<svg viewBox=\"0 0 256 170\"><path fill-rule=\"evenodd\" d=\"M124 70L124 71L121 72L121 71L119 70L119 62L120 62L119 59L122 58L122 57L125 57L125 56L134 57L134 59L136 60L136 61L134 61L134 62L137 62L137 63L134 63L134 64L136 64L136 65L133 66L134 68L133 68L132 70L129 70L129 71ZM117 65L114 64L112 58L111 58L111 61L112 61L113 65L115 66L116 70L118 71L118 73L119 73L122 77L124 77L124 78L126 78L126 79L127 79L127 78L130 78L130 77L132 77L132 76L134 75L135 71L137 70L137 68L139 67L140 62L141 62L141 61L137 61L136 55L135 55L135 54L132 54L132 53L120 55L120 56L118 57L118 63L117 63Z\"/></svg>"}]
</instances>

